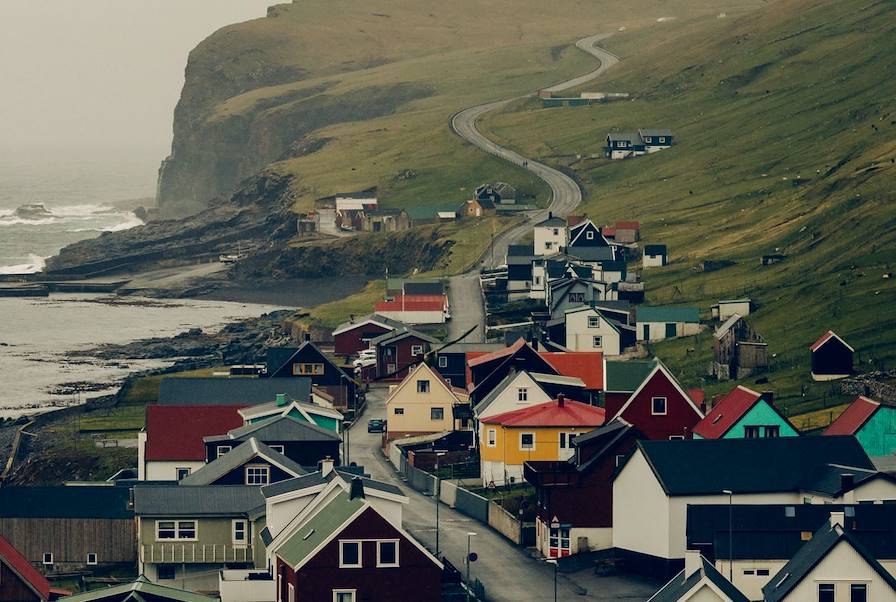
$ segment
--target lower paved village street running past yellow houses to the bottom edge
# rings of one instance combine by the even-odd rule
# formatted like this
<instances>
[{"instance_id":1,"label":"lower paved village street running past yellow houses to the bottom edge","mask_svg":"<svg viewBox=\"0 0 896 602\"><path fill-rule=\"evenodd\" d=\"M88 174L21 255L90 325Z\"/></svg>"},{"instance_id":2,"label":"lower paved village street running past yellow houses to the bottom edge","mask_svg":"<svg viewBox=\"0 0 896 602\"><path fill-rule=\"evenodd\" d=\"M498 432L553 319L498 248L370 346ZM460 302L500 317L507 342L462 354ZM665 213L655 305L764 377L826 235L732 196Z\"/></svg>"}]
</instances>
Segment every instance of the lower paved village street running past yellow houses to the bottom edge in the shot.
<instances>
[{"instance_id":1,"label":"lower paved village street running past yellow houses to the bottom edge","mask_svg":"<svg viewBox=\"0 0 896 602\"><path fill-rule=\"evenodd\" d=\"M432 551L435 549L435 501L398 478L380 449L380 434L367 432L367 420L385 417L387 392L386 388L375 388L368 394L362 419L350 429L350 460L363 465L373 478L394 483L402 489L410 499L403 512L404 527ZM445 504L439 509L439 525L441 554L461 571L467 553L467 533L477 534L473 537L472 549L479 555L479 560L471 566L471 577L485 584L490 600L548 602L554 599L551 565L533 559L497 531ZM561 574L558 579L559 600L646 600L656 590L653 583L625 577L595 577L590 571L570 576Z\"/></svg>"}]
</instances>

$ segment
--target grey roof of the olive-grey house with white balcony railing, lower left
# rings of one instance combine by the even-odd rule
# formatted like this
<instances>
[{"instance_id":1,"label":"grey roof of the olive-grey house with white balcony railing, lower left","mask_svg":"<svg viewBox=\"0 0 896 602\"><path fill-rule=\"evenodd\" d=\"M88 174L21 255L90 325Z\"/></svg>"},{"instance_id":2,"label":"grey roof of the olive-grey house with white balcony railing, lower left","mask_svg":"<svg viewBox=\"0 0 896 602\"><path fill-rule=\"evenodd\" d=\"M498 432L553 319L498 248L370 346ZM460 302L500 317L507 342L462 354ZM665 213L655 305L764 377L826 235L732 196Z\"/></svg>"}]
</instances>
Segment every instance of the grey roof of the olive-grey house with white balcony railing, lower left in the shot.
<instances>
[{"instance_id":1,"label":"grey roof of the olive-grey house with white balcony railing, lower left","mask_svg":"<svg viewBox=\"0 0 896 602\"><path fill-rule=\"evenodd\" d=\"M235 516L264 507L261 488L254 485L134 486L138 516Z\"/></svg>"}]
</instances>

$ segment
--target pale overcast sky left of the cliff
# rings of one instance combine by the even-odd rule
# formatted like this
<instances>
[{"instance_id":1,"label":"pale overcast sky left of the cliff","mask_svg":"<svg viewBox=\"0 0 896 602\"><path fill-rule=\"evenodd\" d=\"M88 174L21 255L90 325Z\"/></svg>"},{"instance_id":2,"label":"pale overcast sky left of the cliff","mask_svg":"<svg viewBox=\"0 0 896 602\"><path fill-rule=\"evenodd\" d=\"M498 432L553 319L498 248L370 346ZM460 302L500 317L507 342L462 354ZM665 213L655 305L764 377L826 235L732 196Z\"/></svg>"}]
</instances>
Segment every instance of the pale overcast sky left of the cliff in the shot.
<instances>
[{"instance_id":1,"label":"pale overcast sky left of the cliff","mask_svg":"<svg viewBox=\"0 0 896 602\"><path fill-rule=\"evenodd\" d=\"M276 3L0 0L0 156L161 160L189 51Z\"/></svg>"}]
</instances>

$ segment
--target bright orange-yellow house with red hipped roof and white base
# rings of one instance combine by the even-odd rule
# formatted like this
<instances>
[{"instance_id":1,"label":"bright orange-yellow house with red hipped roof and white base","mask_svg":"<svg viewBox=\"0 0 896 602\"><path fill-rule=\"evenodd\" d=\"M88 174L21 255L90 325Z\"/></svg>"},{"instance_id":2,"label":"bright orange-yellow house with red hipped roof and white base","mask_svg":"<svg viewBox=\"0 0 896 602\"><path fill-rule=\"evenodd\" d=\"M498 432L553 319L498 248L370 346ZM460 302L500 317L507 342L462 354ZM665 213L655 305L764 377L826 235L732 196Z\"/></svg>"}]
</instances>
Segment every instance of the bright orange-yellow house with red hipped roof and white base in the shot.
<instances>
[{"instance_id":1,"label":"bright orange-yellow house with red hipped roof and white base","mask_svg":"<svg viewBox=\"0 0 896 602\"><path fill-rule=\"evenodd\" d=\"M569 459L573 437L605 421L603 408L565 399L562 394L551 401L482 419L482 484L522 482L523 464L528 460Z\"/></svg>"}]
</instances>

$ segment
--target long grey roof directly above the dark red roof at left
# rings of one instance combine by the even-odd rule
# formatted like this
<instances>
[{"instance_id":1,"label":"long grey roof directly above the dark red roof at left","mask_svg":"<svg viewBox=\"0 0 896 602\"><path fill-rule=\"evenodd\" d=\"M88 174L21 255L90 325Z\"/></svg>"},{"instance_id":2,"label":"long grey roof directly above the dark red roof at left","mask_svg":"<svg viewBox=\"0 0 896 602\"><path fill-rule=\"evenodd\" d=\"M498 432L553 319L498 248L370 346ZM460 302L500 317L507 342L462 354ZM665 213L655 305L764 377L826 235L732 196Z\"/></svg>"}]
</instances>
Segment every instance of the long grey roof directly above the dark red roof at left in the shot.
<instances>
[{"instance_id":1,"label":"long grey roof directly above the dark red roof at left","mask_svg":"<svg viewBox=\"0 0 896 602\"><path fill-rule=\"evenodd\" d=\"M284 393L290 401L311 400L311 379L210 376L163 378L160 405L257 405Z\"/></svg>"}]
</instances>

